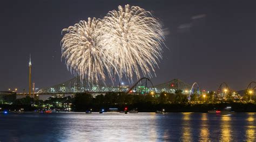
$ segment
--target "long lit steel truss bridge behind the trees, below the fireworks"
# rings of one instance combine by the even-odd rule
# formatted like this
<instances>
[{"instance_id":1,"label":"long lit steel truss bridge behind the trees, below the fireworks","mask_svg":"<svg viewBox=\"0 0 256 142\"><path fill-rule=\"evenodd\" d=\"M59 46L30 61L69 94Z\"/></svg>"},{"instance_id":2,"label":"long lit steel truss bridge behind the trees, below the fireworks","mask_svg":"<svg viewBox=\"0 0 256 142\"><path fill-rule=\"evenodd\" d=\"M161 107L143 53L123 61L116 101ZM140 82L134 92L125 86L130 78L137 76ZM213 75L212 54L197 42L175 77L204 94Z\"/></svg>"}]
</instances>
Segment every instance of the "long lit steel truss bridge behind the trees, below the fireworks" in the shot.
<instances>
[{"instance_id":1,"label":"long lit steel truss bridge behind the trees, below the fireworks","mask_svg":"<svg viewBox=\"0 0 256 142\"><path fill-rule=\"evenodd\" d=\"M65 93L106 93L106 92L126 92L126 93L140 93L146 94L149 92L167 92L174 93L175 90L190 90L191 85L188 85L180 79L173 79L170 82L154 86L149 78L141 78L133 86L107 86L104 84L88 85L85 80L80 81L78 77L68 80L67 82L60 83L51 87L46 87L37 92L37 94L65 94Z\"/></svg>"}]
</instances>

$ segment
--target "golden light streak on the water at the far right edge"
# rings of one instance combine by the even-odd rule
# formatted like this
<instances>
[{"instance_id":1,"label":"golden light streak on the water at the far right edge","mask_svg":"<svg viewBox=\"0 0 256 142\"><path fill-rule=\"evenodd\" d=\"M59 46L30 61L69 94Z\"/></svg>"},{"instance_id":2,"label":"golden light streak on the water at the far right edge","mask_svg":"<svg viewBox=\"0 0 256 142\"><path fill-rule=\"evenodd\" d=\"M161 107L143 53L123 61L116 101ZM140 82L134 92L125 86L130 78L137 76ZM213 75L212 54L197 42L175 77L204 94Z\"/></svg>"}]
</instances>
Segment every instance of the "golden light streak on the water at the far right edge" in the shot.
<instances>
[{"instance_id":1,"label":"golden light streak on the water at the far right edge","mask_svg":"<svg viewBox=\"0 0 256 142\"><path fill-rule=\"evenodd\" d=\"M248 118L247 118L247 123L248 126L246 127L246 139L247 141L255 141L255 129L256 127L253 126L254 124L254 114L253 113L248 113Z\"/></svg>"}]
</instances>

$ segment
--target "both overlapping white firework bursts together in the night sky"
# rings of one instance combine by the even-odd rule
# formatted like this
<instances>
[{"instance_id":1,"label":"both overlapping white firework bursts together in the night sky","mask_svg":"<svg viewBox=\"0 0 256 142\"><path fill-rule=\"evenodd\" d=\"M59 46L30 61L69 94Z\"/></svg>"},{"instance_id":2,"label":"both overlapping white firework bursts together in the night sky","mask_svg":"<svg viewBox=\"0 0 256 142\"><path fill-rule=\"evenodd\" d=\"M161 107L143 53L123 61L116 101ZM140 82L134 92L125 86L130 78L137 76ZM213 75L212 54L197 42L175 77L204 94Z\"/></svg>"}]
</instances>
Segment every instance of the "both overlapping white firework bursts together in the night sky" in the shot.
<instances>
[{"instance_id":1,"label":"both overlapping white firework bursts together in the night sky","mask_svg":"<svg viewBox=\"0 0 256 142\"><path fill-rule=\"evenodd\" d=\"M63 31L62 57L71 72L89 83L104 82L106 75L130 81L152 77L161 59L161 26L138 6L118 6L102 20L89 18Z\"/></svg>"}]
</instances>

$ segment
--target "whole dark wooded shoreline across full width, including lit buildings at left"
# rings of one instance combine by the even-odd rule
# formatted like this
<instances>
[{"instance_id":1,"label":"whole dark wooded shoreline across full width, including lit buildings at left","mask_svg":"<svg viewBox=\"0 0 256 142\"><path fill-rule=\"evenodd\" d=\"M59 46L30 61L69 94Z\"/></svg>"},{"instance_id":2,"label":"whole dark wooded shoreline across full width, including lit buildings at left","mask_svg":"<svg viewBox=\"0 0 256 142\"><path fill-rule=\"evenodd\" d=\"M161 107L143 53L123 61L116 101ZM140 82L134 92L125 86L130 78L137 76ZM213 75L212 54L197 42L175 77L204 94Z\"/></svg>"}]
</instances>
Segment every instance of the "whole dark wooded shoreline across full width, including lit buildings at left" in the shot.
<instances>
[{"instance_id":1,"label":"whole dark wooded shoreline across full width, including lit buildings at left","mask_svg":"<svg viewBox=\"0 0 256 142\"><path fill-rule=\"evenodd\" d=\"M75 97L53 98L48 100L37 100L30 97L16 99L11 104L0 104L0 107L8 110L18 110L23 108L25 111L37 109L58 109L62 111L100 111L102 109L117 108L123 111L125 107L129 110L138 109L139 112L154 112L165 109L166 112L207 112L212 109L224 109L232 106L236 112L256 112L255 97L254 101L249 101L250 96L246 95L242 99L232 98L227 95L225 100L217 100L213 92L203 95L193 94L188 101L187 96L181 90L176 93L160 94L126 94L123 92L108 92L95 97L90 93L77 93ZM67 110L70 109L70 110Z\"/></svg>"}]
</instances>

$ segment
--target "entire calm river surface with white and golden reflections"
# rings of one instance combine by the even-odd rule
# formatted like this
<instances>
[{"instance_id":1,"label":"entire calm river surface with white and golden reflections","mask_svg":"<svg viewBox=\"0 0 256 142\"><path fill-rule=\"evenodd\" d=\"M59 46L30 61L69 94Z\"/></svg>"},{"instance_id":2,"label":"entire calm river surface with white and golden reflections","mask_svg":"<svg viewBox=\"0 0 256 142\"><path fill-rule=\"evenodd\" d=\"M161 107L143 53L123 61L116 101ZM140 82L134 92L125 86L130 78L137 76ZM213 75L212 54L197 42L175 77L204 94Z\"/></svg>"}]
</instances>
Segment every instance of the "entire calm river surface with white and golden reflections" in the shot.
<instances>
[{"instance_id":1,"label":"entire calm river surface with white and golden reflections","mask_svg":"<svg viewBox=\"0 0 256 142\"><path fill-rule=\"evenodd\" d=\"M0 141L256 141L256 113L0 114Z\"/></svg>"}]
</instances>

